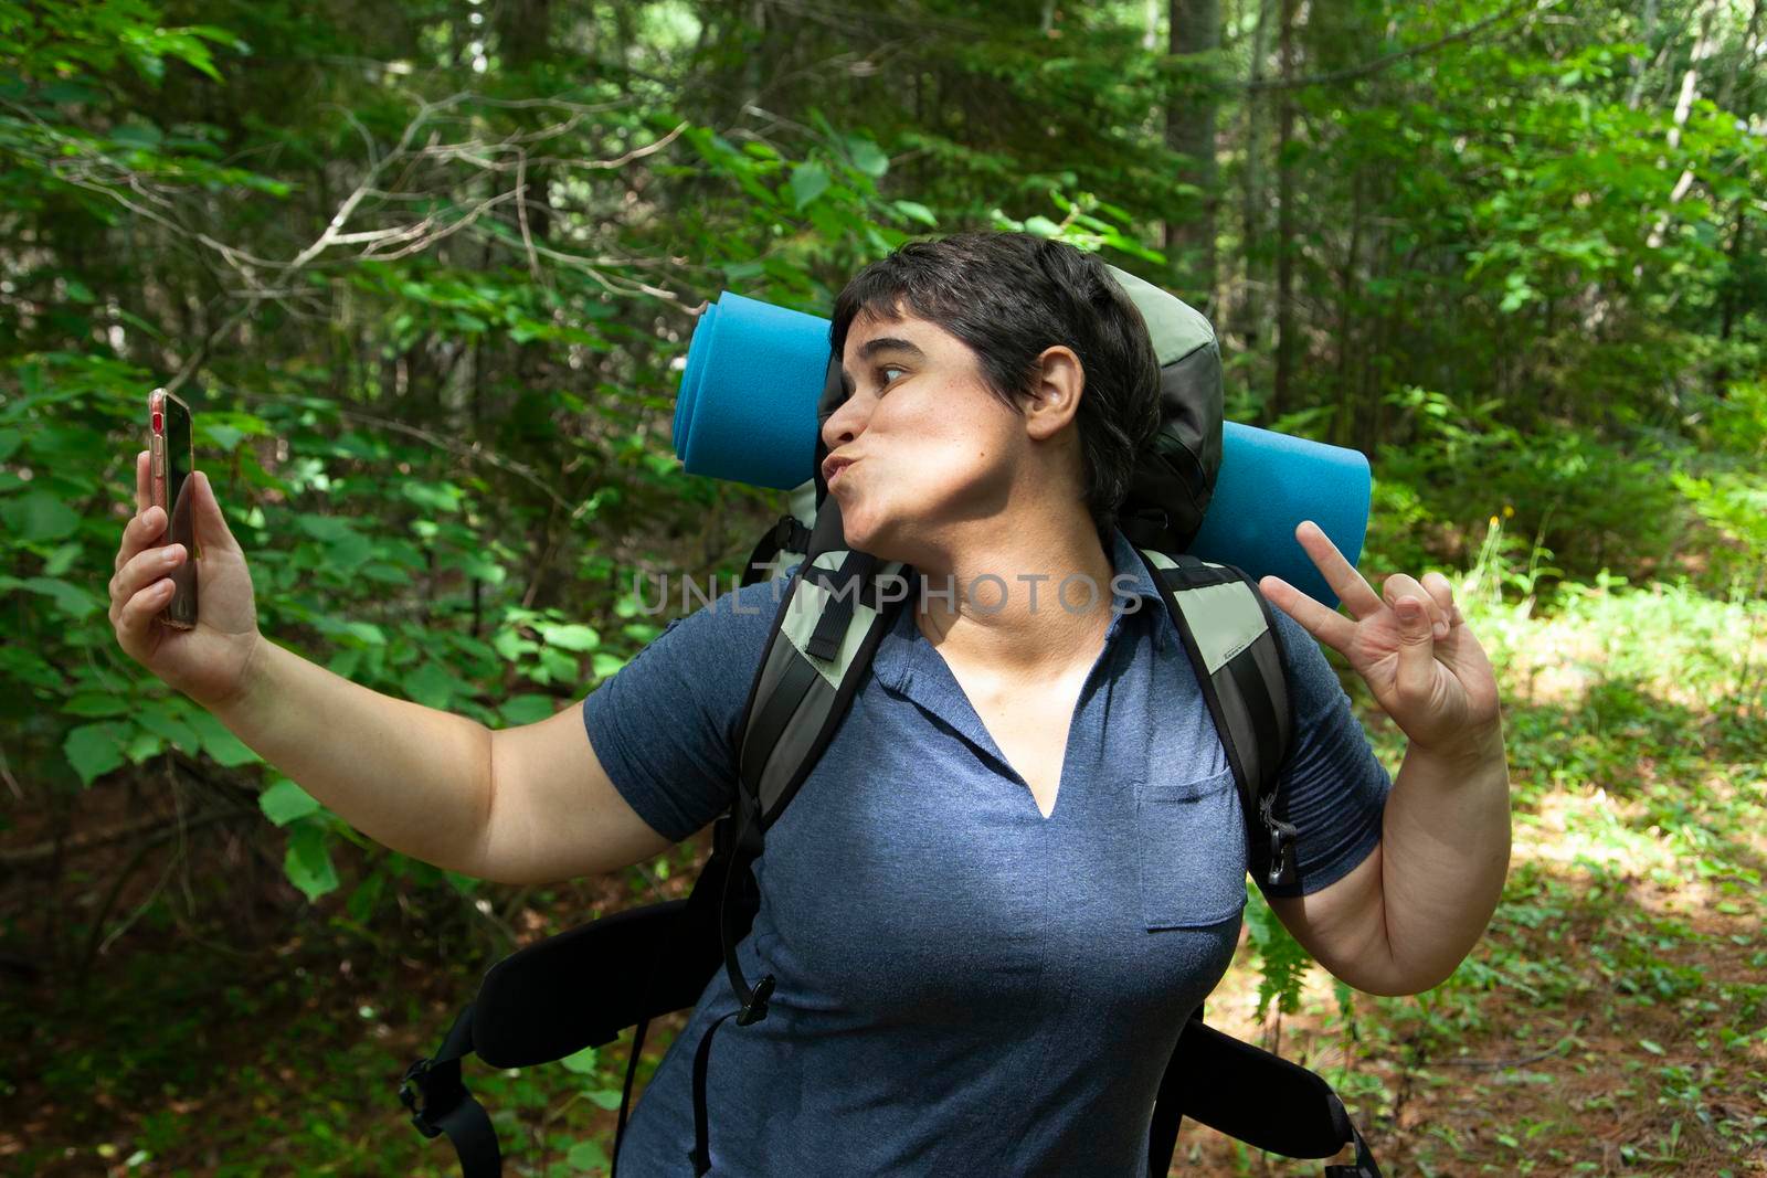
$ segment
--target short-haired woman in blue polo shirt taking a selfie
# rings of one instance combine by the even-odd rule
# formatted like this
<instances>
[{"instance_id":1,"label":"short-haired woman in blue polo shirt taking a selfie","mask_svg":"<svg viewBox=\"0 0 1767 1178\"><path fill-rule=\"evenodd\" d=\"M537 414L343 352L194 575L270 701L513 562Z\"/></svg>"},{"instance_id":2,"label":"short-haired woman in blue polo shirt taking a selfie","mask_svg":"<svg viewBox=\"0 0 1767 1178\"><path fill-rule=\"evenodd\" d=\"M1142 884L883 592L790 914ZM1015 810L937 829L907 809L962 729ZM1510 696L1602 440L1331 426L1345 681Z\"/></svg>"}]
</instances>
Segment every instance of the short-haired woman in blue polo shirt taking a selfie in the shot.
<instances>
[{"instance_id":1,"label":"short-haired woman in blue polo shirt taking a selfie","mask_svg":"<svg viewBox=\"0 0 1767 1178\"><path fill-rule=\"evenodd\" d=\"M1094 258L963 235L868 267L832 339L848 396L822 424L829 491L848 544L906 562L922 592L756 864L739 957L777 989L765 1021L716 1040L712 1173L1143 1174L1164 1061L1232 957L1248 867L1263 878L1194 673L1113 521L1157 419L1145 325ZM163 521L143 517L118 553L118 641L364 834L550 881L656 855L728 807L777 583L671 623L581 719L491 733L263 641L207 480L200 516L201 625L150 625L163 565L140 549ZM1444 578L1398 574L1382 597L1316 528L1297 539L1354 620L1262 583L1304 832L1297 883L1265 890L1336 977L1415 993L1502 887L1495 682ZM1094 608L1057 602L1074 574ZM1309 634L1410 736L1396 782ZM636 1106L622 1173L691 1173L693 1046L733 1003L717 971Z\"/></svg>"}]
</instances>

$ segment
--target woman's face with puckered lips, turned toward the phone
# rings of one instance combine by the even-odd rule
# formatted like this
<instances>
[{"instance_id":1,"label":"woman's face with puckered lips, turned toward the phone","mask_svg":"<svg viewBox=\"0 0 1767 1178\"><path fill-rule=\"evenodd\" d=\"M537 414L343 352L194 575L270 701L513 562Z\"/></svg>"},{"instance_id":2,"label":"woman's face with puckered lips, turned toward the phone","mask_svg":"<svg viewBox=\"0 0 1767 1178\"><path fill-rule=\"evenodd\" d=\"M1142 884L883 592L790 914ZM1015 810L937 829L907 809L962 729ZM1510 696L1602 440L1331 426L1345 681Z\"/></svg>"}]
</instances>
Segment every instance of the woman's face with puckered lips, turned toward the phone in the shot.
<instances>
[{"instance_id":1,"label":"woman's face with puckered lips, turned toward the phone","mask_svg":"<svg viewBox=\"0 0 1767 1178\"><path fill-rule=\"evenodd\" d=\"M846 542L910 560L952 525L1005 509L1028 445L1025 417L988 390L975 353L937 323L861 314L841 367L848 397L822 427Z\"/></svg>"}]
</instances>

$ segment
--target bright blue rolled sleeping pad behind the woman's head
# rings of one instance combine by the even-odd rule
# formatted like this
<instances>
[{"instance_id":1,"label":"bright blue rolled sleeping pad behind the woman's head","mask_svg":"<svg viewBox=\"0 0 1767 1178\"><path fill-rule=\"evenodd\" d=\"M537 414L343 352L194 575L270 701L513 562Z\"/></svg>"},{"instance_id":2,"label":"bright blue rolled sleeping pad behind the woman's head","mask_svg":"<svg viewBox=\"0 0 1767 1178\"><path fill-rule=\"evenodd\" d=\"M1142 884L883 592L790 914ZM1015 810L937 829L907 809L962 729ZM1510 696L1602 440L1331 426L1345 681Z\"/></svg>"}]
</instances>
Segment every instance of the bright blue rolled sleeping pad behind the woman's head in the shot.
<instances>
[{"instance_id":1,"label":"bright blue rolled sleeping pad behind the woman's head","mask_svg":"<svg viewBox=\"0 0 1767 1178\"><path fill-rule=\"evenodd\" d=\"M687 348L675 456L693 475L802 493L815 475L827 367L829 320L723 291L700 314ZM1295 528L1311 519L1354 567L1371 489L1359 450L1223 422L1214 498L1189 551L1253 579L1278 576L1336 609L1338 595Z\"/></svg>"}]
</instances>

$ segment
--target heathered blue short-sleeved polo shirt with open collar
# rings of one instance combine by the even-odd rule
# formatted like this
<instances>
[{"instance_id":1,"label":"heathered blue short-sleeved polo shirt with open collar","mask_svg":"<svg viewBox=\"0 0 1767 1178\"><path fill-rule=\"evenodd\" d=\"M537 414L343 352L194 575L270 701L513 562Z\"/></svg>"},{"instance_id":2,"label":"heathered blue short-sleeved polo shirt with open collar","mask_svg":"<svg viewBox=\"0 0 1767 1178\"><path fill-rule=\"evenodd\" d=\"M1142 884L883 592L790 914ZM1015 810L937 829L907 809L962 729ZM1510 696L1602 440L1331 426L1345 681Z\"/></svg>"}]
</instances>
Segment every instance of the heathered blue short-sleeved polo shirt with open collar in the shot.
<instances>
[{"instance_id":1,"label":"heathered blue short-sleeved polo shirt with open collar","mask_svg":"<svg viewBox=\"0 0 1767 1178\"><path fill-rule=\"evenodd\" d=\"M1117 616L1044 818L903 608L755 867L737 947L769 1016L726 1021L707 1076L714 1174L1147 1174L1179 1031L1226 971L1248 855L1239 789L1152 578L1122 532ZM659 834L730 804L785 579L664 629L583 701L597 758ZM1014 586L1016 588L1016 586ZM991 600L991 599L990 599ZM912 606L912 600L908 602ZM1306 894L1380 841L1392 779L1318 643L1281 609ZM610 963L618 968L618 963ZM620 1173L691 1174L693 1053L737 1008L719 968L636 1100Z\"/></svg>"}]
</instances>

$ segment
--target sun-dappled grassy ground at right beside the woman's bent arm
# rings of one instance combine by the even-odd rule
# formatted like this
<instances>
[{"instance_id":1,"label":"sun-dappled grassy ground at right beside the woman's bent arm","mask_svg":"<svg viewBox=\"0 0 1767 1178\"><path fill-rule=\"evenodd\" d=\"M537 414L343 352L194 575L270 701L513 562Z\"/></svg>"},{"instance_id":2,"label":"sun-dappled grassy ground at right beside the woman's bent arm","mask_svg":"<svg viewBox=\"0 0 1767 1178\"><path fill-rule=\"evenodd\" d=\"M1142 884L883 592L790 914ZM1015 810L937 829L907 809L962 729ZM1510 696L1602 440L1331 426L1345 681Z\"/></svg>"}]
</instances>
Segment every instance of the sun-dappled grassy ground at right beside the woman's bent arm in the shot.
<instances>
[{"instance_id":1,"label":"sun-dappled grassy ground at right beside the woman's bent arm","mask_svg":"<svg viewBox=\"0 0 1767 1178\"><path fill-rule=\"evenodd\" d=\"M1661 592L1474 616L1514 789L1484 940L1428 994L1311 966L1292 1014L1258 1017L1242 936L1209 1021L1325 1076L1389 1174L1767 1174L1767 699L1735 696L1767 669L1763 620ZM1398 772L1403 735L1346 687ZM1186 1121L1173 1173L1320 1162Z\"/></svg>"}]
</instances>

